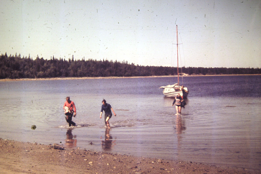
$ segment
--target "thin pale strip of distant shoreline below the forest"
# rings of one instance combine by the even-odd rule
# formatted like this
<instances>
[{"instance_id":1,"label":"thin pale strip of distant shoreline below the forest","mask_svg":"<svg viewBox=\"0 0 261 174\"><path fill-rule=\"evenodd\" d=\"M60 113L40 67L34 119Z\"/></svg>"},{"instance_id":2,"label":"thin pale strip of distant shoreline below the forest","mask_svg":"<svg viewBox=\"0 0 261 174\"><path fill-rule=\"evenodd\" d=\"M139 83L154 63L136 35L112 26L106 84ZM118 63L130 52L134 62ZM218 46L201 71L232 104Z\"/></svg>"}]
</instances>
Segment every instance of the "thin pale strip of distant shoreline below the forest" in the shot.
<instances>
[{"instance_id":1,"label":"thin pale strip of distant shoreline below the forest","mask_svg":"<svg viewBox=\"0 0 261 174\"><path fill-rule=\"evenodd\" d=\"M183 77L196 77L196 76L254 76L261 74L220 74L220 75L188 75ZM152 78L152 77L177 77L175 76L133 76L133 77L52 77L52 78L21 78L21 79L0 79L0 82L5 81L32 81L32 80L85 80L85 79L113 79L113 78Z\"/></svg>"}]
</instances>

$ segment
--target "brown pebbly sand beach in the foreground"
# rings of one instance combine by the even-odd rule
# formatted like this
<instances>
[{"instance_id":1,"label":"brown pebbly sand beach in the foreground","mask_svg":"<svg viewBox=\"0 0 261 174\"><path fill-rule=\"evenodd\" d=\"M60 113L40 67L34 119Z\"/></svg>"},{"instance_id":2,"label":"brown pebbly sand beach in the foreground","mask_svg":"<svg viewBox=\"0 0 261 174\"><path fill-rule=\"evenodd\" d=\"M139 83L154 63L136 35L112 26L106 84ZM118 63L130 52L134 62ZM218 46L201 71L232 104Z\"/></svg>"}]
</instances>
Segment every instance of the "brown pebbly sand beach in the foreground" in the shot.
<instances>
[{"instance_id":1,"label":"brown pebbly sand beach in the foreground","mask_svg":"<svg viewBox=\"0 0 261 174\"><path fill-rule=\"evenodd\" d=\"M0 171L20 173L261 173L261 170L220 167L191 161L109 154L63 145L42 145L0 138Z\"/></svg>"}]
</instances>

